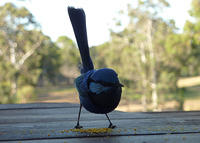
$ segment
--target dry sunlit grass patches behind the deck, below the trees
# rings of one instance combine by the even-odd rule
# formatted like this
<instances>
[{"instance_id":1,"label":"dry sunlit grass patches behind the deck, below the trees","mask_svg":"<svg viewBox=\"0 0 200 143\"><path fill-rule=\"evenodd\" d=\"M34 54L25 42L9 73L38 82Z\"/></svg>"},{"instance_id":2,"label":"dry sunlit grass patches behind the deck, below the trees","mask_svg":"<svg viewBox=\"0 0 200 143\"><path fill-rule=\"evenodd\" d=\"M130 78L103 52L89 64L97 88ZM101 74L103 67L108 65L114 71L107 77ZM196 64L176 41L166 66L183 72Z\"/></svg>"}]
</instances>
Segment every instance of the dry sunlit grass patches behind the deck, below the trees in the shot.
<instances>
[{"instance_id":1,"label":"dry sunlit grass patches behind the deck, below the trees","mask_svg":"<svg viewBox=\"0 0 200 143\"><path fill-rule=\"evenodd\" d=\"M131 105L134 108L133 111L141 111L141 96L135 93L132 89L124 88L122 92L122 100L120 103L123 106ZM38 87L36 88L37 99L35 102L72 102L78 103L79 99L77 96L76 89L71 87L63 86L49 86L49 87ZM159 95L159 106L161 110L176 110L178 102L176 94L162 94ZM148 97L148 106L151 107L151 97ZM176 102L176 103L175 103ZM189 110L200 110L200 87L190 87L184 92L184 102L186 103L184 109ZM198 104L199 103L199 104ZM194 107L195 105L195 107Z\"/></svg>"}]
</instances>

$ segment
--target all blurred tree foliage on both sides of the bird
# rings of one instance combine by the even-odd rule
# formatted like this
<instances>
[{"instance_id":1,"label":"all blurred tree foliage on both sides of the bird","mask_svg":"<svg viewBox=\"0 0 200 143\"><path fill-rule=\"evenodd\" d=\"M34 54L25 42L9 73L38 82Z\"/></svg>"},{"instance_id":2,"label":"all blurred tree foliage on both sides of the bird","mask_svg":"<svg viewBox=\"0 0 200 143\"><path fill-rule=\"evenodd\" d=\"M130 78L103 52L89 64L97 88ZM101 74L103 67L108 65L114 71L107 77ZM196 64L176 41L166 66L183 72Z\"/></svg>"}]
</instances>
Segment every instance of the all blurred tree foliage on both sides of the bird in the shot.
<instances>
[{"instance_id":1,"label":"all blurred tree foliage on both sides of the bird","mask_svg":"<svg viewBox=\"0 0 200 143\"><path fill-rule=\"evenodd\" d=\"M125 85L123 93L141 98L145 110L147 103L157 109L161 95L174 95L182 110L188 91L179 89L177 80L200 73L200 1L192 0L191 6L193 20L177 33L173 20L160 17L169 7L166 0L129 4L128 25L111 30L110 41L90 48L95 68L115 69ZM54 43L26 8L11 3L0 7L0 103L27 102L44 81L72 84L80 74L78 66L79 51L71 39L61 36Z\"/></svg>"}]
</instances>

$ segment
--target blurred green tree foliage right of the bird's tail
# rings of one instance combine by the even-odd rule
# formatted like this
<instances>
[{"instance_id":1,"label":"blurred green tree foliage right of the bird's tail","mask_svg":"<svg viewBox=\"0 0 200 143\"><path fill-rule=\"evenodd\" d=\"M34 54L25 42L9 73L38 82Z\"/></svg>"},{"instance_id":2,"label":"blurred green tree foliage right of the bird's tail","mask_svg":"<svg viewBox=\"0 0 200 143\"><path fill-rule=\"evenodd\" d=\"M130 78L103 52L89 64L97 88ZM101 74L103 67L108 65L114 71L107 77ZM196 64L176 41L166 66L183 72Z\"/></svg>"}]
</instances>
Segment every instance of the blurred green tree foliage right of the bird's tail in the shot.
<instances>
[{"instance_id":1,"label":"blurred green tree foliage right of the bird's tail","mask_svg":"<svg viewBox=\"0 0 200 143\"><path fill-rule=\"evenodd\" d=\"M129 24L121 32L111 31L111 41L93 50L99 67L117 70L126 89L143 96L144 106L152 97L154 109L158 97L169 93L183 104L186 89L178 89L176 82L180 77L198 75L200 67L199 0L193 0L190 11L196 22L186 22L184 32L179 34L173 20L159 17L168 6L165 0L138 0L134 8L128 5Z\"/></svg>"}]
</instances>

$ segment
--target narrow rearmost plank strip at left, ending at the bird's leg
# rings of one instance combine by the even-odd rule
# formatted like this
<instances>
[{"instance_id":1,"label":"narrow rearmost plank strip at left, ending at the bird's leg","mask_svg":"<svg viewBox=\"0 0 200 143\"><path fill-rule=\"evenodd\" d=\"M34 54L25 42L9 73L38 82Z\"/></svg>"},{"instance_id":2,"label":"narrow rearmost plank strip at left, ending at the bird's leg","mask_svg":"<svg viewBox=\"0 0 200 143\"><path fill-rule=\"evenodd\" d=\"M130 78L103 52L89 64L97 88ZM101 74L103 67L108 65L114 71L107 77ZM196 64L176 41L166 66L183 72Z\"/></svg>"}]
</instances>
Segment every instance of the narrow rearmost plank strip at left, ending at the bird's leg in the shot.
<instances>
[{"instance_id":1,"label":"narrow rearmost plank strip at left, ending at the bird's leg","mask_svg":"<svg viewBox=\"0 0 200 143\"><path fill-rule=\"evenodd\" d=\"M0 104L0 110L8 109L42 109L42 108L72 108L78 107L73 103L29 103L29 104Z\"/></svg>"}]
</instances>

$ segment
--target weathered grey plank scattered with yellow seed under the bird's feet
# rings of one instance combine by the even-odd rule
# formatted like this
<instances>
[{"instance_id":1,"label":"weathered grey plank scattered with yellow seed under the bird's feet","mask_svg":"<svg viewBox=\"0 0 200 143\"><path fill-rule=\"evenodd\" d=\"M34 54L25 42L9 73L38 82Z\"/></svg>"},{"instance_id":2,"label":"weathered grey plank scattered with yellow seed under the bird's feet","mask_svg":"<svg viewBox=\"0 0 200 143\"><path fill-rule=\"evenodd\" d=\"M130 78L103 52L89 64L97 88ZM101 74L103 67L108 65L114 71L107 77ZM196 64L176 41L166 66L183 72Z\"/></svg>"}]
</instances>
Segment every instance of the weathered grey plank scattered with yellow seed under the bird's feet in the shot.
<instances>
[{"instance_id":1,"label":"weathered grey plank scattered with yellow seed under the bird's feet","mask_svg":"<svg viewBox=\"0 0 200 143\"><path fill-rule=\"evenodd\" d=\"M118 135L156 135L156 134L183 134L199 133L200 119L126 119L114 120L118 128L109 133L81 133L70 131L75 121L47 122L47 123L21 123L0 126L0 141L11 141L19 139L47 139L47 138L74 138L96 136L118 136ZM85 128L102 128L108 126L108 121L81 121ZM66 132L65 132L66 130Z\"/></svg>"}]
</instances>

